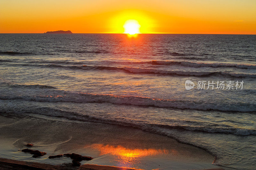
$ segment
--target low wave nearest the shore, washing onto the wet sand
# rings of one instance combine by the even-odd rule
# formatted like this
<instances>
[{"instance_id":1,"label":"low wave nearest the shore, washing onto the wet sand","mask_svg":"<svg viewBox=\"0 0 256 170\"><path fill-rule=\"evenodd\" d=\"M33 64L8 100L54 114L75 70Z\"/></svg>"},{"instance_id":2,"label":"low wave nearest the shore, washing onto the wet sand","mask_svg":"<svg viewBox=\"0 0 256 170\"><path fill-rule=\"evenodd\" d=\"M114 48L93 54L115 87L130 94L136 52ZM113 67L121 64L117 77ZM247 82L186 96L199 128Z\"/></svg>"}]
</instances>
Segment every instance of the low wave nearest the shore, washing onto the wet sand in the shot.
<instances>
[{"instance_id":1,"label":"low wave nearest the shore, washing onto the wet sand","mask_svg":"<svg viewBox=\"0 0 256 170\"><path fill-rule=\"evenodd\" d=\"M108 119L108 118L95 117L92 115L86 115L86 114L77 113L77 112L64 111L61 109L56 109L51 107L37 107L37 108L27 107L26 110L19 109L19 111L8 111L3 108L1 112L8 113L8 114L15 114L15 115L33 113L33 114L39 114L39 115L67 118L70 120L117 124L122 126L130 126L138 129L143 129L149 132L159 133L159 134L164 134L164 131L162 131L162 129L176 129L176 130L200 131L200 132L207 132L207 133L225 133L225 134L233 134L233 135L240 135L240 136L256 135L255 129L200 127L200 126L192 127L192 126L184 126L184 125L166 125L166 124L149 124L149 123L142 123L142 122L141 123L127 122L123 120Z\"/></svg>"}]
</instances>

